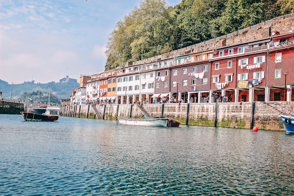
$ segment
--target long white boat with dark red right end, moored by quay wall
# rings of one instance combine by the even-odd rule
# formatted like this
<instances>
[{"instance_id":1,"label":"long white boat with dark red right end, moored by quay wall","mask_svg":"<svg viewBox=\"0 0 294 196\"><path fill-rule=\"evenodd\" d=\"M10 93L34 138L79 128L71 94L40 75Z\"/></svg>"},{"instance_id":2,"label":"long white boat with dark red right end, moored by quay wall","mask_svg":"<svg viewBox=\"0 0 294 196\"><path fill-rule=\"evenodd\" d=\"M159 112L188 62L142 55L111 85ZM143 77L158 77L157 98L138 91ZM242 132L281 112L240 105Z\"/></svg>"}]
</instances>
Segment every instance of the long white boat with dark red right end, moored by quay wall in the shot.
<instances>
[{"instance_id":1,"label":"long white boat with dark red right end, moored by quay wall","mask_svg":"<svg viewBox=\"0 0 294 196\"><path fill-rule=\"evenodd\" d=\"M165 117L143 116L141 119L118 117L117 124L140 125L140 126L159 126L159 127L178 127L181 123Z\"/></svg>"}]
</instances>

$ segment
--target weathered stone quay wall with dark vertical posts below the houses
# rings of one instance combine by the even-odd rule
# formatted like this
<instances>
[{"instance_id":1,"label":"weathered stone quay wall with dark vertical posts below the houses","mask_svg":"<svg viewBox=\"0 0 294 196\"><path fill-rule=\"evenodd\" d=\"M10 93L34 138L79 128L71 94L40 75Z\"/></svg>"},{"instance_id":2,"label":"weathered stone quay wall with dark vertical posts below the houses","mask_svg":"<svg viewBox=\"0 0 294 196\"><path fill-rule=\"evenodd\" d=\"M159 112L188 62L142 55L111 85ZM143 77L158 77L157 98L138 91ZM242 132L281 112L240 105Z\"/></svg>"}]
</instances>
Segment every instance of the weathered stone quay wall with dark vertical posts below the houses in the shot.
<instances>
[{"instance_id":1,"label":"weathered stone quay wall with dark vertical posts below the houses","mask_svg":"<svg viewBox=\"0 0 294 196\"><path fill-rule=\"evenodd\" d=\"M76 118L118 117L142 118L143 111L137 104L96 105L99 117L91 105L70 105L61 108L62 116ZM294 116L294 102L241 102L241 103L163 103L145 104L153 116L165 116L184 125L231 127L264 130L285 130L278 115ZM101 119L101 118L100 118Z\"/></svg>"}]
</instances>

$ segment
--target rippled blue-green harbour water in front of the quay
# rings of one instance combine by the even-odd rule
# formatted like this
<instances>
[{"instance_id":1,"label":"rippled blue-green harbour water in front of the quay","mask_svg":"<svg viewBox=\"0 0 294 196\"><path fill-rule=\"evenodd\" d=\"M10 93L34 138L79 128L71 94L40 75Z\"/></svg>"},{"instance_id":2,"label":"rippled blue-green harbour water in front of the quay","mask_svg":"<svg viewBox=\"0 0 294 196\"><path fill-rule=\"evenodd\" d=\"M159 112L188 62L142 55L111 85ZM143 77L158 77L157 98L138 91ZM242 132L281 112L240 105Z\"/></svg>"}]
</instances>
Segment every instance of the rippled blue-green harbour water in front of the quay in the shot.
<instances>
[{"instance_id":1,"label":"rippled blue-green harbour water in front of the quay","mask_svg":"<svg viewBox=\"0 0 294 196\"><path fill-rule=\"evenodd\" d=\"M294 195L294 135L0 115L0 195Z\"/></svg>"}]
</instances>

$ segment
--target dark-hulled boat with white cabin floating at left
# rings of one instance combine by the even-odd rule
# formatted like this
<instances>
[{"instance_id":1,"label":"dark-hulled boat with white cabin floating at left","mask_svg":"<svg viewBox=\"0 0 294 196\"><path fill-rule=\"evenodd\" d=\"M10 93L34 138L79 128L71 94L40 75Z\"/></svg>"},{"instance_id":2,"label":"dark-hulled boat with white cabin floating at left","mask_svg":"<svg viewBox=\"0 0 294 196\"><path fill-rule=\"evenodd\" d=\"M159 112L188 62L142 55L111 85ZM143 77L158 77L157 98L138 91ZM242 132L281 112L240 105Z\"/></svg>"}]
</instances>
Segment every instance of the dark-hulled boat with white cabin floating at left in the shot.
<instances>
[{"instance_id":1,"label":"dark-hulled boat with white cabin floating at left","mask_svg":"<svg viewBox=\"0 0 294 196\"><path fill-rule=\"evenodd\" d=\"M60 108L55 105L48 105L43 114L32 112L21 112L25 121L56 121L59 119Z\"/></svg>"}]
</instances>

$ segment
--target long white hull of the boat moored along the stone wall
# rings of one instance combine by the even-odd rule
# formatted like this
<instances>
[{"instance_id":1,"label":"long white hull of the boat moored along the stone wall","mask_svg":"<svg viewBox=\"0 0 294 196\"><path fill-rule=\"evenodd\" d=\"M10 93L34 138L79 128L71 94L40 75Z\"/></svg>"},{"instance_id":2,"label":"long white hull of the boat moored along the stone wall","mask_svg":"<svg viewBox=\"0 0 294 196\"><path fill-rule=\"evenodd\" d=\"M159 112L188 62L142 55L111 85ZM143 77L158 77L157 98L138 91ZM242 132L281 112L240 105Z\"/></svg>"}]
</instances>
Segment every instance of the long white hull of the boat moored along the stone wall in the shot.
<instances>
[{"instance_id":1,"label":"long white hull of the boat moored along the stone wall","mask_svg":"<svg viewBox=\"0 0 294 196\"><path fill-rule=\"evenodd\" d=\"M117 123L122 125L159 126L159 127L167 127L168 121L169 120L167 118L135 119L135 118L120 117L117 119Z\"/></svg>"}]
</instances>

